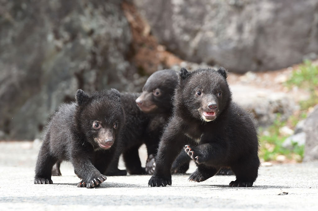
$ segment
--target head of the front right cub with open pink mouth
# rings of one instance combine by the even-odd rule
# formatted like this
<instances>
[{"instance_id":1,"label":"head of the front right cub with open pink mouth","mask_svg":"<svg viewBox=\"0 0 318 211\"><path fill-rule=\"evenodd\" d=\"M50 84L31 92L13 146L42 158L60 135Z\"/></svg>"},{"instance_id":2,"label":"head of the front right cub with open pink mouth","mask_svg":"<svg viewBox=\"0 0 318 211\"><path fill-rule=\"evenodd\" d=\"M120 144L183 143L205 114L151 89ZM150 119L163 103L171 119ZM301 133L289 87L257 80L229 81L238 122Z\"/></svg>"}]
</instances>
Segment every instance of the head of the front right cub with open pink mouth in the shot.
<instances>
[{"instance_id":1,"label":"head of the front right cub with open pink mouth","mask_svg":"<svg viewBox=\"0 0 318 211\"><path fill-rule=\"evenodd\" d=\"M226 78L223 67L217 71L198 68L192 72L182 68L175 94L176 109L181 110L183 115L205 122L217 119L232 98Z\"/></svg>"}]
</instances>

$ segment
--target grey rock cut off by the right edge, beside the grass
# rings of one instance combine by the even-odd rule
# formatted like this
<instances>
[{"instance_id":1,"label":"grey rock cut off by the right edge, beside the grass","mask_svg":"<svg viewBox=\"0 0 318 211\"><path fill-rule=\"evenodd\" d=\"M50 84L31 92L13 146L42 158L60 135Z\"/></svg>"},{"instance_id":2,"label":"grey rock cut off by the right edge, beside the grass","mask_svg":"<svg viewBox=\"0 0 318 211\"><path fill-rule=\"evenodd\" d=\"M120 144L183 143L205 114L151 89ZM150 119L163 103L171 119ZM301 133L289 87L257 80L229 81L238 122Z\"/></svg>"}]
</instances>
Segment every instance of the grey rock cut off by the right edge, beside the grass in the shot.
<instances>
[{"instance_id":1,"label":"grey rock cut off by the right edge, beside the grass","mask_svg":"<svg viewBox=\"0 0 318 211\"><path fill-rule=\"evenodd\" d=\"M306 144L304 161L318 160L318 105L305 119Z\"/></svg>"}]
</instances>

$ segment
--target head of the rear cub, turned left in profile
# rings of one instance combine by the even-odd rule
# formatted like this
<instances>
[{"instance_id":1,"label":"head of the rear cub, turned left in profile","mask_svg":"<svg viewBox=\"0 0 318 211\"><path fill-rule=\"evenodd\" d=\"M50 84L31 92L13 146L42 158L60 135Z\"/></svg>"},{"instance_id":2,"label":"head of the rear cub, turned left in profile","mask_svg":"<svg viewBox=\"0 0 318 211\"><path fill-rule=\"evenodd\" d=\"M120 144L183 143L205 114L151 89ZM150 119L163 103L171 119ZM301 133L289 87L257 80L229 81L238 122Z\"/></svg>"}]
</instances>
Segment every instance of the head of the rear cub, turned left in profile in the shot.
<instances>
[{"instance_id":1,"label":"head of the rear cub, turned left in profile","mask_svg":"<svg viewBox=\"0 0 318 211\"><path fill-rule=\"evenodd\" d=\"M163 113L172 110L172 96L178 76L176 71L166 69L154 72L142 88L142 94L136 99L140 110L145 113Z\"/></svg>"}]
</instances>

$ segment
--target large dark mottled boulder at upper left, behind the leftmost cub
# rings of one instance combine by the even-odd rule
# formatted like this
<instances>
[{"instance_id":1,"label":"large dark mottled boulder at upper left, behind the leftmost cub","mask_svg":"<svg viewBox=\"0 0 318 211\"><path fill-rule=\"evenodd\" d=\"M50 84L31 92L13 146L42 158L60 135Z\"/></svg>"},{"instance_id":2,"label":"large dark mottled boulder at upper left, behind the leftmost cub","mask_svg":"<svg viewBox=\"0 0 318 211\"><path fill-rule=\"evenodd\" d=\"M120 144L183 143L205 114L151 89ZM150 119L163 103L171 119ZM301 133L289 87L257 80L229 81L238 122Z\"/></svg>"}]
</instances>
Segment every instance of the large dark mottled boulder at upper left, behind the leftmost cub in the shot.
<instances>
[{"instance_id":1,"label":"large dark mottled boulder at upper left, behind the leftmost cub","mask_svg":"<svg viewBox=\"0 0 318 211\"><path fill-rule=\"evenodd\" d=\"M131 39L118 0L2 0L1 137L39 137L50 113L79 88L142 87L127 58Z\"/></svg>"}]
</instances>

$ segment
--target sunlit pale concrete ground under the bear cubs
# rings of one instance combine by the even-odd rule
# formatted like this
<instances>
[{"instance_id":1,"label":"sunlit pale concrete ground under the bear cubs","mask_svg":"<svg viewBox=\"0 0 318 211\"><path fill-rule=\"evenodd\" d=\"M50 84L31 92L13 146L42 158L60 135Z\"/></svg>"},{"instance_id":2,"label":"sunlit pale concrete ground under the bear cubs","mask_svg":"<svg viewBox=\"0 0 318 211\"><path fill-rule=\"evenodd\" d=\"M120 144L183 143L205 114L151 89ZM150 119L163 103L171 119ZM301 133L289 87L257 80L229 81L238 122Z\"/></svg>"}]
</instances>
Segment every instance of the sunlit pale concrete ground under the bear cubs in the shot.
<instances>
[{"instance_id":1,"label":"sunlit pale concrete ground under the bear cubs","mask_svg":"<svg viewBox=\"0 0 318 211\"><path fill-rule=\"evenodd\" d=\"M173 175L169 187L148 187L149 175L128 175L107 176L101 187L87 189L76 187L80 180L66 162L54 184L33 184L39 145L0 142L0 210L318 210L318 161L262 166L248 188L227 187L235 176L195 183L188 174Z\"/></svg>"}]
</instances>

